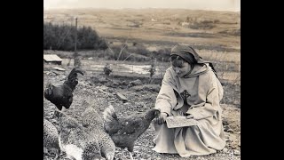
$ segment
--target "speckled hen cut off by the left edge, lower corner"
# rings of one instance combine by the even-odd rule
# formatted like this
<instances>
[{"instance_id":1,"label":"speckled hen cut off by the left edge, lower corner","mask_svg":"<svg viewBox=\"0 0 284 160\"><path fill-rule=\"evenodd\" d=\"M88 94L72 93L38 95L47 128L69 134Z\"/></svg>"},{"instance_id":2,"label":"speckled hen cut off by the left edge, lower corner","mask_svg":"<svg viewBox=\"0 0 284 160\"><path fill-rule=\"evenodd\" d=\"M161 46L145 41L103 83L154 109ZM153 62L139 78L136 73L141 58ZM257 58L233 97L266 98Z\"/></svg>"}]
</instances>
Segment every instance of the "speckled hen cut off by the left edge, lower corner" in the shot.
<instances>
[{"instance_id":1,"label":"speckled hen cut off by the left edge, lower corner","mask_svg":"<svg viewBox=\"0 0 284 160\"><path fill-rule=\"evenodd\" d=\"M50 121L43 118L43 148L51 149L56 153L55 159L59 159L59 133L57 128Z\"/></svg>"}]
</instances>

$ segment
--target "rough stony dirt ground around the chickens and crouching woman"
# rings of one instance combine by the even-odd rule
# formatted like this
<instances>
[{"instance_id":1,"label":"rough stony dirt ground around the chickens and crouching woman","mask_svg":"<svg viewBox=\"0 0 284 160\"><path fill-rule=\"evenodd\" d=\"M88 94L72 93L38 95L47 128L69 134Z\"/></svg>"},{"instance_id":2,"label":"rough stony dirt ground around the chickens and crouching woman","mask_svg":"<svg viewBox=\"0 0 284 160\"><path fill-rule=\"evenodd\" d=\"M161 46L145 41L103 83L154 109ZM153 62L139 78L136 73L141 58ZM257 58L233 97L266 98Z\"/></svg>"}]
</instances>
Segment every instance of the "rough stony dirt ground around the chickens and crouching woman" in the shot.
<instances>
[{"instance_id":1,"label":"rough stony dirt ground around the chickens and crouching woman","mask_svg":"<svg viewBox=\"0 0 284 160\"><path fill-rule=\"evenodd\" d=\"M63 84L71 68L66 71L58 71L51 68L52 66L43 67L43 88L46 84ZM65 67L64 67L65 68ZM154 100L160 90L160 84L142 84L130 86L130 81L125 77L123 80L116 79L112 76L106 78L105 75L94 72L86 72L84 76L79 76L79 84L74 92L74 101L71 108L66 110L67 115L76 119L81 118L84 106L83 101L87 100L97 111L102 112L109 104L112 104L118 113L118 116L130 116L139 112L145 112L149 108L154 108ZM120 100L116 93L122 93L127 101ZM154 148L154 125L144 132L136 141L134 147L134 159L199 159L199 160L228 160L241 159L241 108L233 105L222 104L223 124L225 126L226 147L216 154L208 156L191 156L182 158L178 155L159 154L152 150ZM58 126L56 118L53 116L55 106L43 97L43 117ZM130 159L129 154L125 151L123 159ZM54 155L47 156L43 154L43 160L53 159ZM61 159L67 159L64 153ZM116 148L114 159L122 160L122 150Z\"/></svg>"}]
</instances>

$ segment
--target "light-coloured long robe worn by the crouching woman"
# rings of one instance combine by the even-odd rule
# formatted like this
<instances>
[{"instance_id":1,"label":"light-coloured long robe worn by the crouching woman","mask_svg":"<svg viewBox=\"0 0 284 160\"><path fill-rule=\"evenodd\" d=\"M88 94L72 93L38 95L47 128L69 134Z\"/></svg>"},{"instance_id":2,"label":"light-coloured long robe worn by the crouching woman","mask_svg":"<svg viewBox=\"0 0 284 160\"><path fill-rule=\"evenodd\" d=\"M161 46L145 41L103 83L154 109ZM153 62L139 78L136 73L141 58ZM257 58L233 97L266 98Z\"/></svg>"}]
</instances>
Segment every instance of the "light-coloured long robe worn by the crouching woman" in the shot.
<instances>
[{"instance_id":1,"label":"light-coloured long robe worn by the crouching woman","mask_svg":"<svg viewBox=\"0 0 284 160\"><path fill-rule=\"evenodd\" d=\"M185 104L181 94L189 96ZM185 95L184 95L185 97ZM225 148L222 108L223 87L208 64L194 66L190 75L178 77L173 68L168 68L157 96L155 108L169 116L193 115L199 125L168 128L166 124L154 124L154 151L179 154L179 156L201 156Z\"/></svg>"}]
</instances>

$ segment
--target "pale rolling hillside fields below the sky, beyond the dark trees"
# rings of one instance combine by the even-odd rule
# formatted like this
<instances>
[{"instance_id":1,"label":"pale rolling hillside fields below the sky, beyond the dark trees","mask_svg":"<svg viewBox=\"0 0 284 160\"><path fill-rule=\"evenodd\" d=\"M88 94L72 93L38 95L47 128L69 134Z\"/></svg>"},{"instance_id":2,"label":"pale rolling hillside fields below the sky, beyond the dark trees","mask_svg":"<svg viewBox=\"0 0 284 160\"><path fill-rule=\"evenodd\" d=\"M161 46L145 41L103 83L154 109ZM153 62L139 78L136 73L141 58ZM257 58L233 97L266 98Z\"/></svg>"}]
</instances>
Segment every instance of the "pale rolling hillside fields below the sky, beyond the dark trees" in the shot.
<instances>
[{"instance_id":1,"label":"pale rolling hillside fields below the sky, beyond the dark trees","mask_svg":"<svg viewBox=\"0 0 284 160\"><path fill-rule=\"evenodd\" d=\"M75 25L75 17L79 28L90 26L109 41L127 39L160 46L188 43L240 51L241 12L88 8L45 10L43 14L44 21L58 24Z\"/></svg>"}]
</instances>

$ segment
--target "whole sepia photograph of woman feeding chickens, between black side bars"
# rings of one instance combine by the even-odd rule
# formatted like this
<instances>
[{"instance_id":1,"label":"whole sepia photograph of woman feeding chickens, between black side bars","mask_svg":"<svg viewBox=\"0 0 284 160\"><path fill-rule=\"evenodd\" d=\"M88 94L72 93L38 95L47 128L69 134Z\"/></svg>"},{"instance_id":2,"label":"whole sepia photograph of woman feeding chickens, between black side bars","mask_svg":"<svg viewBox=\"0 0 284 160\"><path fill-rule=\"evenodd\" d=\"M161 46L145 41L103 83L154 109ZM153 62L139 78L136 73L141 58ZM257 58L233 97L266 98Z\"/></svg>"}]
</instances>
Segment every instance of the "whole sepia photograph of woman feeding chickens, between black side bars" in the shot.
<instances>
[{"instance_id":1,"label":"whole sepia photograph of woman feeding chickens, between black side bars","mask_svg":"<svg viewBox=\"0 0 284 160\"><path fill-rule=\"evenodd\" d=\"M43 0L43 160L241 160L241 0Z\"/></svg>"}]
</instances>

